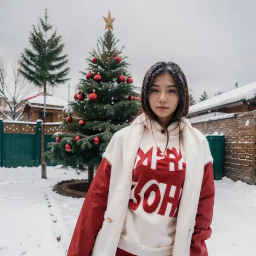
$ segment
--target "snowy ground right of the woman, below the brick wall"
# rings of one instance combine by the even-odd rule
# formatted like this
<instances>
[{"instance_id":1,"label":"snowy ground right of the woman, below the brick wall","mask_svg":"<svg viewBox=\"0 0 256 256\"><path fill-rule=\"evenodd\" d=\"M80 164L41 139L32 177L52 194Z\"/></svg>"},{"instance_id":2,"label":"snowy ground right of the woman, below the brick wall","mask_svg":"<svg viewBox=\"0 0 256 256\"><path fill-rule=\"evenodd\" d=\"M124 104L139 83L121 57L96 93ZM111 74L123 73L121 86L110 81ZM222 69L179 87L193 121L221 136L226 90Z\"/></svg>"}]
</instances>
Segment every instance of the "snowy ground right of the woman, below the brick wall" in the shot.
<instances>
[{"instance_id":1,"label":"snowy ground right of the woman, below the brick wall","mask_svg":"<svg viewBox=\"0 0 256 256\"><path fill-rule=\"evenodd\" d=\"M256 186L224 177L215 190L209 255L255 255Z\"/></svg>"}]
</instances>

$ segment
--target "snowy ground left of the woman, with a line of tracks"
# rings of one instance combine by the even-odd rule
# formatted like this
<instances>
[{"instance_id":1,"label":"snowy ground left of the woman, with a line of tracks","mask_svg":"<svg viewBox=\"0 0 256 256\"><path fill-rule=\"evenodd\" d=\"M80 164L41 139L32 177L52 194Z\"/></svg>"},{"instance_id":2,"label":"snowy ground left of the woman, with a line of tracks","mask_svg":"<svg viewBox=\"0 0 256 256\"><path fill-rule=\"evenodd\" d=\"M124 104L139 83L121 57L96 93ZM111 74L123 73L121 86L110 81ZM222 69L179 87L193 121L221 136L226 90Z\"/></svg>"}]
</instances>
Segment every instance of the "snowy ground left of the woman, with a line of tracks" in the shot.
<instances>
[{"instance_id":1,"label":"snowy ground left of the woman, with a line of tracks","mask_svg":"<svg viewBox=\"0 0 256 256\"><path fill-rule=\"evenodd\" d=\"M66 254L83 199L72 209L77 200L52 187L87 174L59 167L47 167L47 180L41 178L41 167L0 168L0 256Z\"/></svg>"}]
</instances>

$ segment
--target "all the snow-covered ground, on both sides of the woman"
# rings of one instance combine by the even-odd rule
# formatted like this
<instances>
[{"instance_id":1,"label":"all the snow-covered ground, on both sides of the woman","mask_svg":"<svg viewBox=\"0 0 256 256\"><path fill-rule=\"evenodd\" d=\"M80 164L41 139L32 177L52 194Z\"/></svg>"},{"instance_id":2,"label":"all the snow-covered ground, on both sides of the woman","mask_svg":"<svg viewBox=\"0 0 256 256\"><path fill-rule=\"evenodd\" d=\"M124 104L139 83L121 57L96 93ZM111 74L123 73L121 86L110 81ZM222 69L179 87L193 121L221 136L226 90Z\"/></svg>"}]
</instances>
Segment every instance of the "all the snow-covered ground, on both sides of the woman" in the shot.
<instances>
[{"instance_id":1,"label":"all the snow-covered ground, on both sides of the woman","mask_svg":"<svg viewBox=\"0 0 256 256\"><path fill-rule=\"evenodd\" d=\"M61 180L86 174L48 167L0 170L0 256L64 256L84 199L52 191ZM215 181L210 256L255 256L256 186L228 178Z\"/></svg>"}]
</instances>

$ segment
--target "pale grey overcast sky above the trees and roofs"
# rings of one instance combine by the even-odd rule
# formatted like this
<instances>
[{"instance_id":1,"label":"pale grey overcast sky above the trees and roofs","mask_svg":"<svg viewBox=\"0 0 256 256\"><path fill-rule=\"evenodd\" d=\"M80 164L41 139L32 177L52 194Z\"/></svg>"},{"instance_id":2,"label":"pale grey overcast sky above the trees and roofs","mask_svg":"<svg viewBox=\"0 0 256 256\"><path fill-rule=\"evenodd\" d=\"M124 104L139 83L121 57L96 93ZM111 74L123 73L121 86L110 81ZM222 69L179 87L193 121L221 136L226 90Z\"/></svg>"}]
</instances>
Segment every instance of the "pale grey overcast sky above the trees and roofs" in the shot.
<instances>
[{"instance_id":1,"label":"pale grey overcast sky above the trees and roofs","mask_svg":"<svg viewBox=\"0 0 256 256\"><path fill-rule=\"evenodd\" d=\"M196 99L204 90L213 96L256 81L255 0L0 0L0 56L19 58L46 6L69 55L70 98L109 10L136 86L160 60L180 65ZM68 86L53 95L68 99Z\"/></svg>"}]
</instances>

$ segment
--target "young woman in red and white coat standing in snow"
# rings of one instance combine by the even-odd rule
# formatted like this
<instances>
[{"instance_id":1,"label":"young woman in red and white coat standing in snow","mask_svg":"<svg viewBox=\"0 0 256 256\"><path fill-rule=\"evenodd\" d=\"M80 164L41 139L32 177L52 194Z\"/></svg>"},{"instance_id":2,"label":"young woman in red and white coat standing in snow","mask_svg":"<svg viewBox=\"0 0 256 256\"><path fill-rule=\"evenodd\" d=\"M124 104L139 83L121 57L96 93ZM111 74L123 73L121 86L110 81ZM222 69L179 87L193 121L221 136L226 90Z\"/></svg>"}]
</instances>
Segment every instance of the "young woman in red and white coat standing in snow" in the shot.
<instances>
[{"instance_id":1,"label":"young woman in red and white coat standing in snow","mask_svg":"<svg viewBox=\"0 0 256 256\"><path fill-rule=\"evenodd\" d=\"M158 62L142 112L112 137L86 195L68 256L207 256L214 203L206 138L185 118L183 71Z\"/></svg>"}]
</instances>

